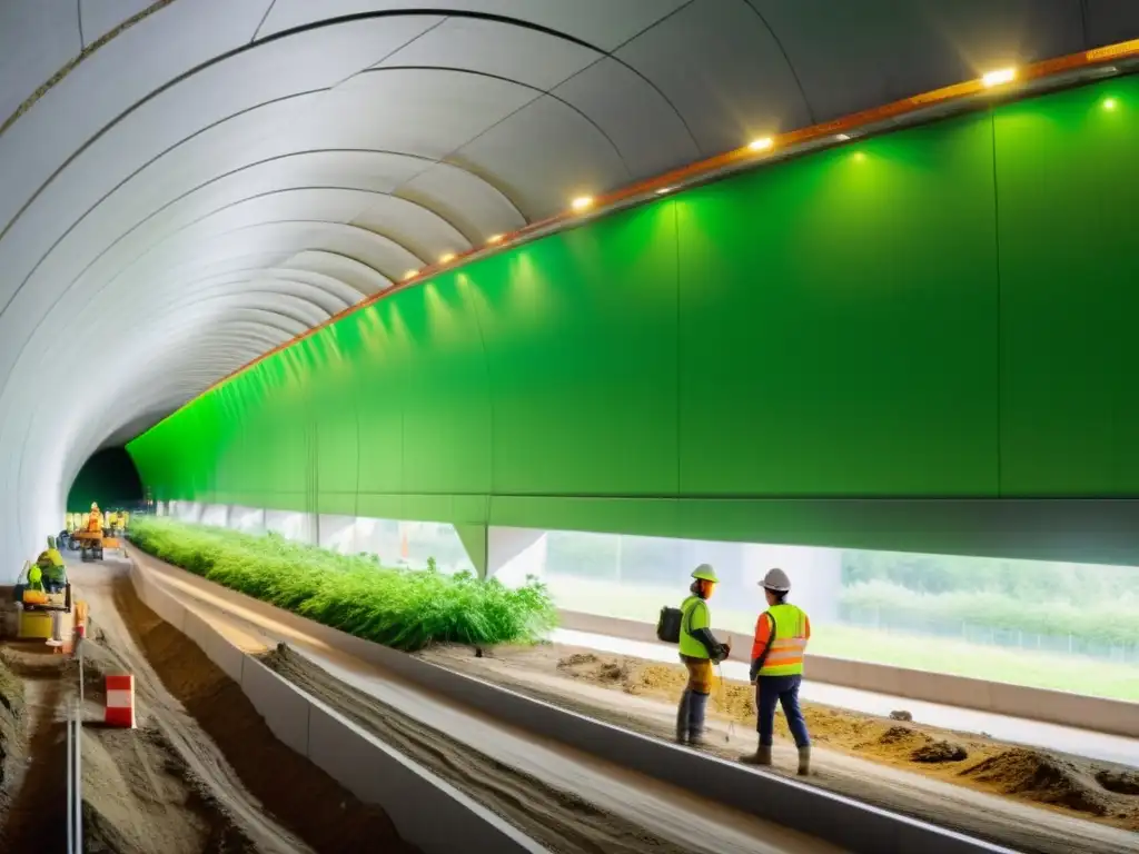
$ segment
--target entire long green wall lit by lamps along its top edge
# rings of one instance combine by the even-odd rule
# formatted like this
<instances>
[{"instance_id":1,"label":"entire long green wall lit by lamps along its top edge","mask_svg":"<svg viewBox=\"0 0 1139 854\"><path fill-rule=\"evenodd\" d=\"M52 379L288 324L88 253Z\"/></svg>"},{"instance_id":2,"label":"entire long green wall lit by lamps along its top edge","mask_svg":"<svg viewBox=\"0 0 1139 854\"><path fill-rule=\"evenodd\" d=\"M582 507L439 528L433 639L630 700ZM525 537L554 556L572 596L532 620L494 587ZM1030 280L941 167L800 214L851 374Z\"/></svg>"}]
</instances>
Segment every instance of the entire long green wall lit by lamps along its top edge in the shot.
<instances>
[{"instance_id":1,"label":"entire long green wall lit by lamps along its top edge","mask_svg":"<svg viewBox=\"0 0 1139 854\"><path fill-rule=\"evenodd\" d=\"M764 498L1136 494L1137 139L1124 79L697 188L383 299L129 451L158 500L718 539Z\"/></svg>"}]
</instances>

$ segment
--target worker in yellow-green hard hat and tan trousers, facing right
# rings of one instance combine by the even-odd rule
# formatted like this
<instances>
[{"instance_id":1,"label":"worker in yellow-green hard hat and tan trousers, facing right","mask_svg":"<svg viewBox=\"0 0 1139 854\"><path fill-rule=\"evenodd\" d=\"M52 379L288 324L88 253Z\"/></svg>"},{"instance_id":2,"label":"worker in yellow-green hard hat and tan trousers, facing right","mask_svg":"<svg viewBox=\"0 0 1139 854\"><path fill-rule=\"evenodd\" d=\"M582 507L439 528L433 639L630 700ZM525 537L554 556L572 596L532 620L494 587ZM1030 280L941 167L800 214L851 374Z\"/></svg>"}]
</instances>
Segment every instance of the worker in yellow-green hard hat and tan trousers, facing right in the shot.
<instances>
[{"instance_id":1,"label":"worker in yellow-green hard hat and tan trousers, facing right","mask_svg":"<svg viewBox=\"0 0 1139 854\"><path fill-rule=\"evenodd\" d=\"M731 648L712 634L707 600L716 585L715 570L700 564L693 570L689 596L680 606L680 660L688 670L688 684L677 709L677 742L704 744L704 714L712 693L712 664L728 657Z\"/></svg>"}]
</instances>

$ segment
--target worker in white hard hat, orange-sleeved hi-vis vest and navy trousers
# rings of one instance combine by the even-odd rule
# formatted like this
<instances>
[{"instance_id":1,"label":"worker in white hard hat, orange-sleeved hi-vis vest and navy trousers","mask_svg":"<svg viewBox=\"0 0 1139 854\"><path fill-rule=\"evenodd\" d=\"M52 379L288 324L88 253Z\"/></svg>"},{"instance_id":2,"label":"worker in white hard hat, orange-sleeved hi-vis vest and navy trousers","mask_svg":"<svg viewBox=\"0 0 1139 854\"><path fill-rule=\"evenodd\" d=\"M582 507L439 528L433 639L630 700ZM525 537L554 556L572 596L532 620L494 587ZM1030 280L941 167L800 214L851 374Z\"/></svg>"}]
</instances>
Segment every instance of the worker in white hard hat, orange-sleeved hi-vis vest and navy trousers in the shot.
<instances>
[{"instance_id":1,"label":"worker in white hard hat, orange-sleeved hi-vis vest and navy trousers","mask_svg":"<svg viewBox=\"0 0 1139 854\"><path fill-rule=\"evenodd\" d=\"M782 569L771 569L760 586L767 596L768 609L755 624L751 671L760 744L754 754L743 759L754 765L771 764L776 706L781 705L798 748L798 773L805 775L811 770L811 739L798 706L798 688L803 681L803 655L811 638L811 621L802 608L787 601L790 578Z\"/></svg>"}]
</instances>

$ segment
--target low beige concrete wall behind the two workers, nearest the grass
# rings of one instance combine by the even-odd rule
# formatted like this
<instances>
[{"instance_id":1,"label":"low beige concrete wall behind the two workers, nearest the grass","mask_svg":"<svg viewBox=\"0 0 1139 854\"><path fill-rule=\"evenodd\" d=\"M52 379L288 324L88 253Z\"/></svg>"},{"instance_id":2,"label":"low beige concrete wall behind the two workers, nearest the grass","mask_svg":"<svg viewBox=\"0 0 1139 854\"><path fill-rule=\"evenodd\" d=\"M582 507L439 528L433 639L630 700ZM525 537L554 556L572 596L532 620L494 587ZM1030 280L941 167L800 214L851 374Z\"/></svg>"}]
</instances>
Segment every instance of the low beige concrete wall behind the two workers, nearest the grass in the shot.
<instances>
[{"instance_id":1,"label":"low beige concrete wall behind the two workers, nearest the grass","mask_svg":"<svg viewBox=\"0 0 1139 854\"><path fill-rule=\"evenodd\" d=\"M659 642L656 639L656 626L649 623L599 617L580 611L559 614L563 629L647 643ZM732 660L747 660L752 649L749 634L739 632L718 634L727 634L730 638ZM1085 697L1042 688L1025 688L907 667L891 667L885 664L831 658L810 652L806 655L806 668L811 680L827 684L1139 738L1137 703Z\"/></svg>"}]
</instances>

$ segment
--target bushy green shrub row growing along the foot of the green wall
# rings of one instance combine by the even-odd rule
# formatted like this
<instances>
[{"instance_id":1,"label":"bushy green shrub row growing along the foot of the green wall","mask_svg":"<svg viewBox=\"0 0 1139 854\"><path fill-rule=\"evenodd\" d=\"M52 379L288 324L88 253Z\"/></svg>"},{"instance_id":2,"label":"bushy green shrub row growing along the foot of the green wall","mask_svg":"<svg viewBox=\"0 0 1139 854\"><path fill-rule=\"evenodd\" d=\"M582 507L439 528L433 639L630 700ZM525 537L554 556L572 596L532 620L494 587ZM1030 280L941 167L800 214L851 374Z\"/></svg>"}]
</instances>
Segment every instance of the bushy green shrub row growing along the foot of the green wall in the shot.
<instances>
[{"instance_id":1,"label":"bushy green shrub row growing along the foot of the green wall","mask_svg":"<svg viewBox=\"0 0 1139 854\"><path fill-rule=\"evenodd\" d=\"M470 573L444 575L434 561L420 570L392 568L371 555L154 517L132 519L129 536L195 575L405 651L441 642L528 643L557 622L554 601L534 578L510 590Z\"/></svg>"}]
</instances>

